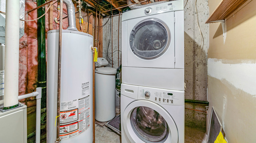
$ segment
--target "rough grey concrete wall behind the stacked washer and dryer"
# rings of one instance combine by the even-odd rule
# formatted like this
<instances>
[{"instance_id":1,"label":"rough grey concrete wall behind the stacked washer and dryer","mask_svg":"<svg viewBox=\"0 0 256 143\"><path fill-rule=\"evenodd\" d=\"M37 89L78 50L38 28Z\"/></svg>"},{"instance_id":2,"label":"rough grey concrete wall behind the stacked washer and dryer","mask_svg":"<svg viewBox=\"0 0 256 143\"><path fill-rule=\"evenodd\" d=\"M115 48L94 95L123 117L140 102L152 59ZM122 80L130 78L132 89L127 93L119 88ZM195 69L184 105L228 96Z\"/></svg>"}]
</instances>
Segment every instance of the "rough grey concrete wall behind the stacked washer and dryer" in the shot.
<instances>
[{"instance_id":1,"label":"rough grey concrete wall behind the stacked washer and dryer","mask_svg":"<svg viewBox=\"0 0 256 143\"><path fill-rule=\"evenodd\" d=\"M186 4L187 2L187 4ZM186 6L185 6L186 4ZM201 46L201 36L197 24L197 14L195 9L195 0L184 0L184 38L185 38L185 99L204 100L206 101L207 88L207 49L208 49L208 24L204 24L208 18L208 1L198 0L197 8L199 13L199 24L203 33L204 44L203 50L199 53ZM103 20L103 24L108 18ZM118 15L113 18L113 52L117 50L117 28ZM110 21L108 22L110 24ZM106 56L109 42L109 24L103 27L103 57ZM121 50L121 16L119 29L119 50ZM111 37L110 37L111 38ZM109 45L109 57L111 58L111 40ZM106 58L106 57L105 57ZM113 54L114 65L117 67L117 51ZM195 60L195 62L193 62ZM110 61L110 60L109 60ZM121 60L119 60L120 62ZM193 62L193 63L191 63ZM191 64L190 64L191 63ZM111 67L111 64L108 66ZM120 109L120 98L116 95L116 107ZM204 107L185 104L186 108L204 110ZM197 127L205 130L206 114L185 109L185 125Z\"/></svg>"}]
</instances>

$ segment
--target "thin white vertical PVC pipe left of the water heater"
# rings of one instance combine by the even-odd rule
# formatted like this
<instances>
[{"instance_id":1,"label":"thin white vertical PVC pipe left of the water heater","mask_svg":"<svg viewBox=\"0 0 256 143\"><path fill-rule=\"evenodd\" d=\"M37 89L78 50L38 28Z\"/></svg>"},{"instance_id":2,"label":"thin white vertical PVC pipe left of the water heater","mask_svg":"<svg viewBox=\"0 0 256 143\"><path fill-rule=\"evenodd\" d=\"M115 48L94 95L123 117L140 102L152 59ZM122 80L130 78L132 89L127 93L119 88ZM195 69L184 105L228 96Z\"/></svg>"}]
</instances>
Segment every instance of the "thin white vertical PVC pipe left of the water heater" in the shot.
<instances>
[{"instance_id":1,"label":"thin white vertical PVC pipe left of the water heater","mask_svg":"<svg viewBox=\"0 0 256 143\"><path fill-rule=\"evenodd\" d=\"M36 96L35 143L40 143L42 87L37 87L36 92L38 95Z\"/></svg>"}]
</instances>

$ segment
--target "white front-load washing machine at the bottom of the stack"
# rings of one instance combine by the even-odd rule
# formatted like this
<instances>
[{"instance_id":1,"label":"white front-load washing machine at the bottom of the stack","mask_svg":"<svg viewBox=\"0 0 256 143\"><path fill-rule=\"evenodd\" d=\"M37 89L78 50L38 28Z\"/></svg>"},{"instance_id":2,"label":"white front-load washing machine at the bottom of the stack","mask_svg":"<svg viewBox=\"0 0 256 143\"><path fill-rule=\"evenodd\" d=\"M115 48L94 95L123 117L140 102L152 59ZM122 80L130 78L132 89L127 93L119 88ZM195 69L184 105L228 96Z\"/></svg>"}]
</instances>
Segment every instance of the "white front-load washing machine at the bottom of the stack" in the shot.
<instances>
[{"instance_id":1,"label":"white front-load washing machine at the bottom of the stack","mask_svg":"<svg viewBox=\"0 0 256 143\"><path fill-rule=\"evenodd\" d=\"M184 143L184 91L121 85L122 143Z\"/></svg>"}]
</instances>

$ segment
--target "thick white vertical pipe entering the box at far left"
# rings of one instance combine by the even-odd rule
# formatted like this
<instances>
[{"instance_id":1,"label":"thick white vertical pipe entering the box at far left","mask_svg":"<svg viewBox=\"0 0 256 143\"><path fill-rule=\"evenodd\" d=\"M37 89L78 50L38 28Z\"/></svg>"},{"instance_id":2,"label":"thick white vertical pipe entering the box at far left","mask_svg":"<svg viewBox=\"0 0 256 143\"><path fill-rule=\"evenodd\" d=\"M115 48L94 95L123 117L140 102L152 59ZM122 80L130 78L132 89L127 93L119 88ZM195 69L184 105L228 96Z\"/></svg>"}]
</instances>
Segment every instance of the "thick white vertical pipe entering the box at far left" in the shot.
<instances>
[{"instance_id":1,"label":"thick white vertical pipe entering the box at far left","mask_svg":"<svg viewBox=\"0 0 256 143\"><path fill-rule=\"evenodd\" d=\"M20 1L6 1L4 107L18 104Z\"/></svg>"}]
</instances>

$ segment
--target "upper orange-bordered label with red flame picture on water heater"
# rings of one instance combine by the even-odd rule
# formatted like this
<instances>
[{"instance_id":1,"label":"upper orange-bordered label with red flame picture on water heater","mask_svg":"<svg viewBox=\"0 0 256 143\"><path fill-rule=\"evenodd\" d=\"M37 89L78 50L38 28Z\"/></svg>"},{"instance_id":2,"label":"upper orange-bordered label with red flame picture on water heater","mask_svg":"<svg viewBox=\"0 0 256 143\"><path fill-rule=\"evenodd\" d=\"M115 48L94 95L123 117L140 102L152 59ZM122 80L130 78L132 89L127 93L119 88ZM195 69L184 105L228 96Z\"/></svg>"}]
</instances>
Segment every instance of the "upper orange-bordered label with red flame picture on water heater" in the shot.
<instances>
[{"instance_id":1,"label":"upper orange-bordered label with red flame picture on water heater","mask_svg":"<svg viewBox=\"0 0 256 143\"><path fill-rule=\"evenodd\" d=\"M60 111L60 124L70 123L78 120L78 109Z\"/></svg>"}]
</instances>

